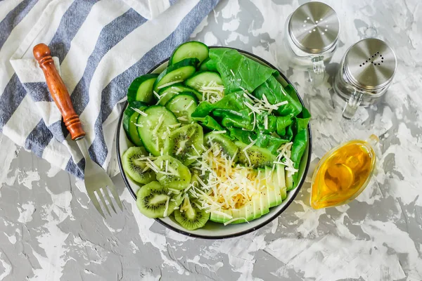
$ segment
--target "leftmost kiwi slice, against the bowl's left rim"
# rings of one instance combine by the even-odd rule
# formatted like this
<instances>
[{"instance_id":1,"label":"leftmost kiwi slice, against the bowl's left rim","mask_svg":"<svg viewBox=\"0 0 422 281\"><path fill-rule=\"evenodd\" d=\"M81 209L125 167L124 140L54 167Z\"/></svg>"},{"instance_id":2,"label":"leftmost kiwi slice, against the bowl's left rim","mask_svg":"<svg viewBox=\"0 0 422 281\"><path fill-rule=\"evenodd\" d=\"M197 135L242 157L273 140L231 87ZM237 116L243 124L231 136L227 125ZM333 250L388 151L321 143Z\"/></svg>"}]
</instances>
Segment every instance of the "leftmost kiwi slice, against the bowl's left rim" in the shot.
<instances>
[{"instance_id":1,"label":"leftmost kiwi slice, against the bowl's left rim","mask_svg":"<svg viewBox=\"0 0 422 281\"><path fill-rule=\"evenodd\" d=\"M143 147L132 147L126 150L122 155L122 164L124 172L137 183L151 183L155 181L155 173L146 168L145 159L148 152Z\"/></svg>"}]
</instances>

